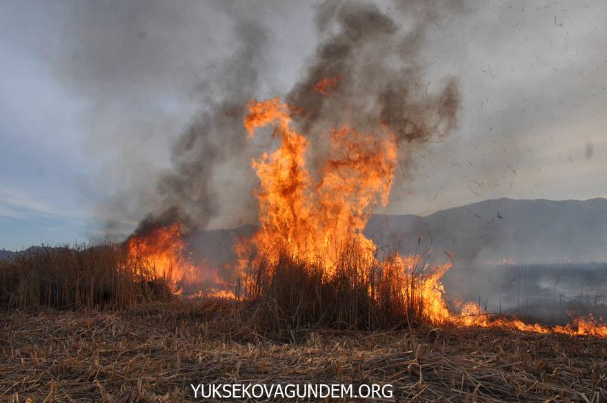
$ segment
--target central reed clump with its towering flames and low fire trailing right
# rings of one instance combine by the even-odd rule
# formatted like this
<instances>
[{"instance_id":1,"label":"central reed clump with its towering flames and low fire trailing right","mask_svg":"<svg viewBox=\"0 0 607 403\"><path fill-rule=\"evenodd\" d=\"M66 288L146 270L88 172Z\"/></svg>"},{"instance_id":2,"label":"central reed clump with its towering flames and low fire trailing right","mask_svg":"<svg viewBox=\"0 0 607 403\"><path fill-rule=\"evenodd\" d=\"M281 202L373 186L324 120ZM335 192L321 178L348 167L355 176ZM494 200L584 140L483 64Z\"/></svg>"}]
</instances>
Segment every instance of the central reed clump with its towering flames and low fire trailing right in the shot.
<instances>
[{"instance_id":1,"label":"central reed clump with its towering flames and low fire trailing right","mask_svg":"<svg viewBox=\"0 0 607 403\"><path fill-rule=\"evenodd\" d=\"M386 126L359 132L331 130L330 158L310 171L310 139L292 123L292 106L279 98L252 100L244 118L248 137L269 126L272 153L253 159L259 178L257 233L236 246L244 298L255 301L259 326L276 330L308 325L391 328L411 320L459 326L601 335L607 325L577 320L546 328L502 320L472 302L448 309L441 278L450 262L430 267L417 254L388 254L364 235L372 208L385 206L397 166L398 137ZM251 258L252 257L252 258Z\"/></svg>"}]
</instances>

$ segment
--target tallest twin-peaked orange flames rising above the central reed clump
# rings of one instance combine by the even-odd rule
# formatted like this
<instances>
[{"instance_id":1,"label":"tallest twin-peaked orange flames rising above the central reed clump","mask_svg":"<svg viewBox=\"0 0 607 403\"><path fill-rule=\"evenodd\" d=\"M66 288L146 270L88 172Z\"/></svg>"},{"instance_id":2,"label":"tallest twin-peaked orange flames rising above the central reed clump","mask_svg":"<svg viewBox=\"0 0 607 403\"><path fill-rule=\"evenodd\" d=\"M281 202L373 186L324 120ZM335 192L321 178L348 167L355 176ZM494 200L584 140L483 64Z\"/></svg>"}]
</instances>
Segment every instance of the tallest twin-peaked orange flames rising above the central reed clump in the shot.
<instances>
[{"instance_id":1,"label":"tallest twin-peaked orange flames rising above the central reed clump","mask_svg":"<svg viewBox=\"0 0 607 403\"><path fill-rule=\"evenodd\" d=\"M388 132L373 136L348 126L333 130L332 156L320 179L306 168L308 140L290 127L290 115L279 99L251 101L245 127L272 125L281 145L252 161L259 177L260 230L253 236L257 250L288 244L293 255L331 267L335 253L355 241L372 259L375 245L362 231L370 207L386 204L397 164L394 137Z\"/></svg>"}]
</instances>

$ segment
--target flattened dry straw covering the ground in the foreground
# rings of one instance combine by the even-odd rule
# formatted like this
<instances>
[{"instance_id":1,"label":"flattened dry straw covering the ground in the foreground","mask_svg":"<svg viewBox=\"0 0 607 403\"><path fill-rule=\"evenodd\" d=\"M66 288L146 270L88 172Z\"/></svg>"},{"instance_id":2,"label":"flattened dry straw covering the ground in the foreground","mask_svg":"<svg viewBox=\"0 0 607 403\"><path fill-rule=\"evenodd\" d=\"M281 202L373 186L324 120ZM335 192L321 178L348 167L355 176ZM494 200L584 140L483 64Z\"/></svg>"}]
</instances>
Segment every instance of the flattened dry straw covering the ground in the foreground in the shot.
<instances>
[{"instance_id":1,"label":"flattened dry straw covering the ground in the foreground","mask_svg":"<svg viewBox=\"0 0 607 403\"><path fill-rule=\"evenodd\" d=\"M190 383L386 382L393 402L607 402L605 340L419 326L300 328L286 344L218 332L222 306L0 314L0 400L185 402Z\"/></svg>"}]
</instances>

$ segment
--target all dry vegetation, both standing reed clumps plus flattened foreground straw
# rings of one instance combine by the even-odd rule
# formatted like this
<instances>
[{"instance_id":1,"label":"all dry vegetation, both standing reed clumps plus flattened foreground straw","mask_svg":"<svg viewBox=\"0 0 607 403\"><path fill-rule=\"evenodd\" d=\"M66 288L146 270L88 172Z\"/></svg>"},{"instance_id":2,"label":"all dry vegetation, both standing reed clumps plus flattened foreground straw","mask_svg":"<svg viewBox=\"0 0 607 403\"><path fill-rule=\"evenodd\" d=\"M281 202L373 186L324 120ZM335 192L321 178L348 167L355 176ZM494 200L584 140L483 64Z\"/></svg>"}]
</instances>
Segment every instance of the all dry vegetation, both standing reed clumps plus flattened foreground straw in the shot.
<instances>
[{"instance_id":1,"label":"all dry vegetation, both standing reed clumps plus flattened foreground straw","mask_svg":"<svg viewBox=\"0 0 607 403\"><path fill-rule=\"evenodd\" d=\"M394 402L607 402L606 340L428 326L415 292L395 294L415 277L360 267L355 253L330 277L287 257L252 261L250 301L236 303L168 296L112 246L19 257L0 266L0 401L184 402L190 383L386 382Z\"/></svg>"}]
</instances>

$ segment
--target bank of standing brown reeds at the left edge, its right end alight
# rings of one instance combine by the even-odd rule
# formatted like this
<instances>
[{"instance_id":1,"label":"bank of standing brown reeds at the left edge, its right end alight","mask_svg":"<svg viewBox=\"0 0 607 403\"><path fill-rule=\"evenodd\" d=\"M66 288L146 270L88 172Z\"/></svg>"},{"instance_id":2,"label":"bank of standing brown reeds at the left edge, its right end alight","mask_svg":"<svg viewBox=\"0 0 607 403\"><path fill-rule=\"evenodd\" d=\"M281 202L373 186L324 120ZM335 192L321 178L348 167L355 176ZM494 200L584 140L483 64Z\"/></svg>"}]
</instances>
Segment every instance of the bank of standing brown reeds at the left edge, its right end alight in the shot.
<instances>
[{"instance_id":1,"label":"bank of standing brown reeds at the left edge, its right end alight","mask_svg":"<svg viewBox=\"0 0 607 403\"><path fill-rule=\"evenodd\" d=\"M120 309L169 296L164 279L112 244L37 248L0 266L2 309Z\"/></svg>"}]
</instances>

